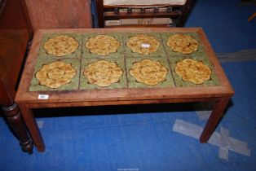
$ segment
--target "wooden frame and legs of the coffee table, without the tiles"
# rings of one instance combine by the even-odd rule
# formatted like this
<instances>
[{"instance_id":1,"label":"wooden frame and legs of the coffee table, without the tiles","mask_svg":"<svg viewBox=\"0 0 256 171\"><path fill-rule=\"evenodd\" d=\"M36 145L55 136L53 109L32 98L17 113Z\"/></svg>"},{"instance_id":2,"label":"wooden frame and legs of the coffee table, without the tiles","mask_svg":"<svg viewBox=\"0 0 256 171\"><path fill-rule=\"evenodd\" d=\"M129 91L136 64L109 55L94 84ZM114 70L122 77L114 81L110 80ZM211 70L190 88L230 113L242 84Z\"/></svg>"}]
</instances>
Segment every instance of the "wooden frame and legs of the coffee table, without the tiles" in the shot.
<instances>
[{"instance_id":1,"label":"wooden frame and legs of the coffee table, without the tiles","mask_svg":"<svg viewBox=\"0 0 256 171\"><path fill-rule=\"evenodd\" d=\"M219 85L196 87L171 88L133 88L133 89L104 89L104 90L65 90L65 91L29 91L36 64L38 50L42 40L42 33L197 33L201 44L210 62L214 65L214 73L218 77ZM49 94L49 99L38 99L38 94ZM103 95L104 94L104 95ZM33 116L33 108L42 107L84 107L103 105L146 104L146 103L188 103L188 102L214 102L214 109L205 125L200 142L207 142L214 132L223 111L234 94L218 59L214 55L210 43L202 29L42 29L34 35L33 45L29 52L24 72L20 81L15 101L19 104L24 121L29 129L34 145L38 151L44 151L45 145Z\"/></svg>"}]
</instances>

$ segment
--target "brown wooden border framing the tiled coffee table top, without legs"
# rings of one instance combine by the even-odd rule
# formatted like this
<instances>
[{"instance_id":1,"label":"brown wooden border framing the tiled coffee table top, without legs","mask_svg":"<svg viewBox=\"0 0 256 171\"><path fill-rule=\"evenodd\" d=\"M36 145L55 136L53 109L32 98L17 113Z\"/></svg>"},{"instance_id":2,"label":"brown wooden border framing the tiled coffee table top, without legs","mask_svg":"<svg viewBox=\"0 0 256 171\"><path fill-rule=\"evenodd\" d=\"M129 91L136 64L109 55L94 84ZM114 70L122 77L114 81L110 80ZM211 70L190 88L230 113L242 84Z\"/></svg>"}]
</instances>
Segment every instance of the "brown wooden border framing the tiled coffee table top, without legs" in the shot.
<instances>
[{"instance_id":1,"label":"brown wooden border framing the tiled coffee table top, without legs","mask_svg":"<svg viewBox=\"0 0 256 171\"><path fill-rule=\"evenodd\" d=\"M201 38L201 45L204 46L209 56L210 62L214 64L214 73L220 81L220 85L205 87L173 87L173 88L138 88L138 89L113 89L113 90L76 90L76 91L47 91L47 92L29 92L30 81L33 77L33 68L36 64L37 53L42 39L42 33L122 33L122 32L179 32L179 33L198 33ZM38 94L49 94L49 99L38 99ZM53 103L60 103L57 106L66 106L68 103L88 106L92 102L106 102L110 104L120 103L143 103L143 100L162 100L162 99L179 99L179 102L188 101L186 99L208 99L218 97L230 97L234 94L232 86L229 84L223 69L214 55L210 43L205 37L202 29L45 29L38 30L33 39L33 45L29 53L24 74L21 79L16 101L18 103L45 103L42 106L55 106ZM134 101L134 102L133 102ZM172 101L172 100L170 100ZM174 100L175 101L175 100ZM81 103L82 102L82 103ZM80 104L78 104L80 103ZM100 103L103 105L104 103ZM70 106L70 105L68 105Z\"/></svg>"}]
</instances>

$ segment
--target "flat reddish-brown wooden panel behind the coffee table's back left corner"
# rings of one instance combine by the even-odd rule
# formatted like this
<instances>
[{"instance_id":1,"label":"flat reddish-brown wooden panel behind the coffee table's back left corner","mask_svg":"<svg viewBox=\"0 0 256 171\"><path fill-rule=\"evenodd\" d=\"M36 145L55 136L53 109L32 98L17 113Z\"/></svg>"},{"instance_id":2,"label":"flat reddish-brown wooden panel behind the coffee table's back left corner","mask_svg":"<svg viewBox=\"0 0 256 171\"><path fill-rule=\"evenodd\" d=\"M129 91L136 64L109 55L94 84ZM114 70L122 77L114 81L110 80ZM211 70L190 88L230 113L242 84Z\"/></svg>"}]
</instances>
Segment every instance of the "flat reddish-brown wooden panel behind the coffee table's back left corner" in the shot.
<instances>
[{"instance_id":1,"label":"flat reddish-brown wooden panel behind the coffee table's back left corner","mask_svg":"<svg viewBox=\"0 0 256 171\"><path fill-rule=\"evenodd\" d=\"M25 0L36 29L91 28L90 0Z\"/></svg>"}]
</instances>

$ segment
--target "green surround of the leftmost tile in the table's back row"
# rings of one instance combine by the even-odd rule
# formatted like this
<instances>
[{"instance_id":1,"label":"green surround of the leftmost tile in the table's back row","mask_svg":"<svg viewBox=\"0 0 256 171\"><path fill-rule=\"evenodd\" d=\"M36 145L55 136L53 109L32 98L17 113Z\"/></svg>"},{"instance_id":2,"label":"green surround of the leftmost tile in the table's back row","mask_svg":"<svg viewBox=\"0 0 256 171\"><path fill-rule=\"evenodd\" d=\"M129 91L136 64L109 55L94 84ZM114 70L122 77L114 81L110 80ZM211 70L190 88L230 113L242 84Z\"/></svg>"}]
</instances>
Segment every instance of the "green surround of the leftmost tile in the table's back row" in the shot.
<instances>
[{"instance_id":1,"label":"green surround of the leftmost tile in the table's back row","mask_svg":"<svg viewBox=\"0 0 256 171\"><path fill-rule=\"evenodd\" d=\"M55 56L55 55L48 55L46 54L46 50L43 48L43 45L45 42L49 40L49 38L56 37L56 36L69 36L69 37L74 37L76 41L79 43L79 46L77 49L72 53L72 54L67 54L64 56ZM38 52L38 58L39 59L44 59L44 58L51 58L51 59L64 59L64 58L80 58L81 57L81 48L82 48L82 34L79 33L51 33L51 34L43 34L42 36L42 42L40 45L40 49Z\"/></svg>"}]
</instances>

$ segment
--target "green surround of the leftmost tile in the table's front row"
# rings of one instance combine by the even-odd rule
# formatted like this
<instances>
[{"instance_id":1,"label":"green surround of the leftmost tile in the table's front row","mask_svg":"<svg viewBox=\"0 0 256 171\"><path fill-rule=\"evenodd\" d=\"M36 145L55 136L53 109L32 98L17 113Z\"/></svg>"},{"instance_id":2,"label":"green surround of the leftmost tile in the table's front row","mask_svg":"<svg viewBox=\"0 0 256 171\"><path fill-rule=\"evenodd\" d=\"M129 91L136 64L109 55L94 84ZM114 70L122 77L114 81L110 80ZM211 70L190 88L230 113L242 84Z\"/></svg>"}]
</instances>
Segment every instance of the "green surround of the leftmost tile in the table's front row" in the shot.
<instances>
[{"instance_id":1,"label":"green surround of the leftmost tile in the table's front row","mask_svg":"<svg viewBox=\"0 0 256 171\"><path fill-rule=\"evenodd\" d=\"M46 85L39 85L38 79L35 77L36 72L38 72L44 64L51 64L57 61L56 59L38 59L37 64L34 68L33 79L31 81L29 91L48 91L48 90L78 90L79 74L80 74L80 60L78 59L61 59L60 61L64 63L72 64L72 67L76 69L77 74L72 78L71 82L62 85L59 88L51 89Z\"/></svg>"}]
</instances>

